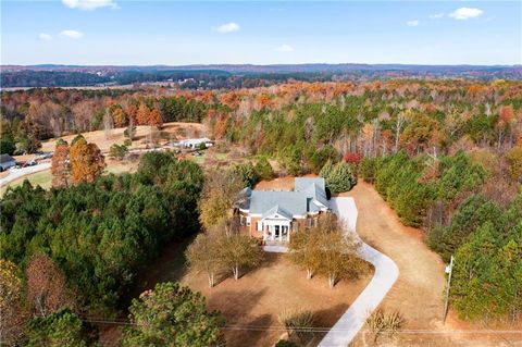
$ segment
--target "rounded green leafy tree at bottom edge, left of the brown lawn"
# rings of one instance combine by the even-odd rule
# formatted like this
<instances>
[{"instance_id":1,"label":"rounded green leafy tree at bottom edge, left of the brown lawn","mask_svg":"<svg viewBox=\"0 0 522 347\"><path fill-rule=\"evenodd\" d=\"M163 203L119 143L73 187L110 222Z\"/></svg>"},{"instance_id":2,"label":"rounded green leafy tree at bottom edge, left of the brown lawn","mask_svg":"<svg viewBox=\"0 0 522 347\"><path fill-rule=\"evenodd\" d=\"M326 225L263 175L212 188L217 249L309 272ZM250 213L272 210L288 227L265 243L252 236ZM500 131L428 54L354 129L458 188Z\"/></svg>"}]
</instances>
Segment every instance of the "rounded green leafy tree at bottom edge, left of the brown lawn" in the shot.
<instances>
[{"instance_id":1,"label":"rounded green leafy tree at bottom edge, left of the brown lawn","mask_svg":"<svg viewBox=\"0 0 522 347\"><path fill-rule=\"evenodd\" d=\"M222 346L225 324L219 311L209 312L204 297L177 283L156 285L134 299L129 308L133 326L123 332L124 347Z\"/></svg>"}]
</instances>

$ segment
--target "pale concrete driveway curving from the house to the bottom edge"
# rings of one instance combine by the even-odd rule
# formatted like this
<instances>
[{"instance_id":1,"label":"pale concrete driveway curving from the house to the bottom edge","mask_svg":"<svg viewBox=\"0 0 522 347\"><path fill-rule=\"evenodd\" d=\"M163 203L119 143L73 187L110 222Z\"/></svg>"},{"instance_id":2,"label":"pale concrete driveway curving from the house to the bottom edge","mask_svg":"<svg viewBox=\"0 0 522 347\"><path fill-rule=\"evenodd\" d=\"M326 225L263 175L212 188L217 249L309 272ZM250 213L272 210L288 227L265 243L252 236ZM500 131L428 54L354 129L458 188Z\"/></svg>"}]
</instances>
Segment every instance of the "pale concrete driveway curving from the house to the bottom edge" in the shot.
<instances>
[{"instance_id":1,"label":"pale concrete driveway curving from the house to the bottom edge","mask_svg":"<svg viewBox=\"0 0 522 347\"><path fill-rule=\"evenodd\" d=\"M353 198L332 198L330 205L332 211L345 222L347 231L355 233L356 237L359 238L356 233L358 213ZM364 326L366 318L377 308L399 276L399 268L391 259L362 240L360 255L375 268L373 278L337 323L332 326L319 346L348 346Z\"/></svg>"}]
</instances>

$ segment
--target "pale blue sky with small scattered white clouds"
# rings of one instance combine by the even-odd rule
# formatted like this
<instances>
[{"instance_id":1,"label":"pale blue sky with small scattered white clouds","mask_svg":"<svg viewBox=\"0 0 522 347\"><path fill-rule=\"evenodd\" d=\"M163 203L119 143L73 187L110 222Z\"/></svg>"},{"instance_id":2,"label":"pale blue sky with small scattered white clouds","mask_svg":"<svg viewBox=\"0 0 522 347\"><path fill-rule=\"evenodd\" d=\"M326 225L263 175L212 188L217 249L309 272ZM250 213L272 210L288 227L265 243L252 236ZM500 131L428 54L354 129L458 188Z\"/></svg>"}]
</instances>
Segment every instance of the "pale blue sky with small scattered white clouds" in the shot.
<instances>
[{"instance_id":1,"label":"pale blue sky with small scattered white clouds","mask_svg":"<svg viewBox=\"0 0 522 347\"><path fill-rule=\"evenodd\" d=\"M2 64L522 64L522 2L1 0Z\"/></svg>"}]
</instances>

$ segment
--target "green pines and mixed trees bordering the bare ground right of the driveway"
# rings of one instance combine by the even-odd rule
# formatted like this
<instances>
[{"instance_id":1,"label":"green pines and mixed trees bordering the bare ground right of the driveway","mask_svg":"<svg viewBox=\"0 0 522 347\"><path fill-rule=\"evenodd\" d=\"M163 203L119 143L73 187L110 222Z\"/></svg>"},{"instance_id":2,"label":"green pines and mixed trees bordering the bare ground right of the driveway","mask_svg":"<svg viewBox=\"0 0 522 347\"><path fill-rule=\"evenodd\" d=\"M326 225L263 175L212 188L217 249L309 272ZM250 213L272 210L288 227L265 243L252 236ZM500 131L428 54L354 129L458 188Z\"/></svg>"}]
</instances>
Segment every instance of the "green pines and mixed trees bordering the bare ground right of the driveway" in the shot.
<instances>
[{"instance_id":1,"label":"green pines and mixed trees bordering the bare ground right of the driveway","mask_svg":"<svg viewBox=\"0 0 522 347\"><path fill-rule=\"evenodd\" d=\"M522 195L476 154L401 151L365 158L359 173L403 224L426 232L445 261L455 256L450 305L460 317L514 323L522 314Z\"/></svg>"}]
</instances>

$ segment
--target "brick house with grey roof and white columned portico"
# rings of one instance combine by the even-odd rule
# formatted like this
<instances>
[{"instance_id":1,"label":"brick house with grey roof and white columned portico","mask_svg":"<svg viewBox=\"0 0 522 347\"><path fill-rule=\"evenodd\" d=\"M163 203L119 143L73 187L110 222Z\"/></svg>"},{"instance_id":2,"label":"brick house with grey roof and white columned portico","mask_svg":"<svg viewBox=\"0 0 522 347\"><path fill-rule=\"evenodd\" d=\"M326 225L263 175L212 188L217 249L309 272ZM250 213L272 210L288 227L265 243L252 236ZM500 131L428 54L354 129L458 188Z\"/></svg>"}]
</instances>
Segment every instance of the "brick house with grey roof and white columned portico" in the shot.
<instances>
[{"instance_id":1,"label":"brick house with grey roof and white columned portico","mask_svg":"<svg viewBox=\"0 0 522 347\"><path fill-rule=\"evenodd\" d=\"M245 188L238 202L241 225L264 241L288 241L291 233L316 225L328 210L321 177L296 177L291 191Z\"/></svg>"}]
</instances>

